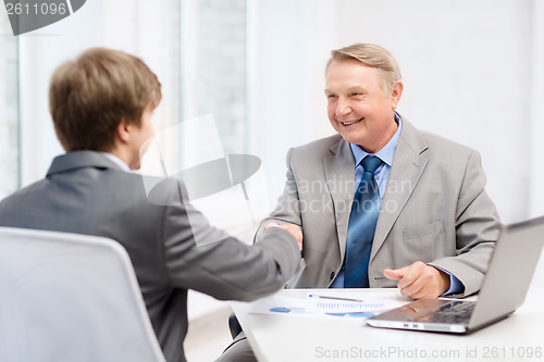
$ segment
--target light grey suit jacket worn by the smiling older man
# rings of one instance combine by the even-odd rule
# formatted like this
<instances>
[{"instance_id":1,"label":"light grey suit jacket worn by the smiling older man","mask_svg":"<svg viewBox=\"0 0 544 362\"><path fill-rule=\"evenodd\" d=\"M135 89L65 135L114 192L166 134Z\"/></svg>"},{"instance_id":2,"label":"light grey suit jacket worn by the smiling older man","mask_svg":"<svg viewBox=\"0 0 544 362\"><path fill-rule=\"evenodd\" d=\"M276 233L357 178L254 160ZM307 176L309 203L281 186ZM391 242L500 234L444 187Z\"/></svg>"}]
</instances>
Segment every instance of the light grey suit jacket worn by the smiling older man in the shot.
<instances>
[{"instance_id":1,"label":"light grey suit jacket worn by the smiling older man","mask_svg":"<svg viewBox=\"0 0 544 362\"><path fill-rule=\"evenodd\" d=\"M479 290L500 228L484 186L478 152L403 120L370 255L370 287L394 287L384 269L422 261L454 274L466 295ZM355 188L354 155L339 135L288 151L284 194L264 222L302 227L306 265L289 286L325 288L338 275Z\"/></svg>"}]
</instances>

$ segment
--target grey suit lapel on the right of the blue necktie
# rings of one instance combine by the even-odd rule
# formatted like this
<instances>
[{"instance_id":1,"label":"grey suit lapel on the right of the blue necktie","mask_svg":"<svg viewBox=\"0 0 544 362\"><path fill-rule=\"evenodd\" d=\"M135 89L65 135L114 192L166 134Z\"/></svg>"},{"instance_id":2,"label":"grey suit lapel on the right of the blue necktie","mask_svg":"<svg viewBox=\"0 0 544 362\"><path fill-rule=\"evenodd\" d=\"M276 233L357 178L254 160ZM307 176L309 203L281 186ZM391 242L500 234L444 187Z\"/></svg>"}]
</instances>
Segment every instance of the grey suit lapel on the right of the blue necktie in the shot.
<instances>
[{"instance_id":1,"label":"grey suit lapel on the right of the blue necktie","mask_svg":"<svg viewBox=\"0 0 544 362\"><path fill-rule=\"evenodd\" d=\"M418 130L403 118L403 132L395 150L390 179L378 219L372 252L370 254L371 261L382 247L400 211L404 209L423 174L429 161L422 155L426 148L428 146L419 137Z\"/></svg>"}]
</instances>

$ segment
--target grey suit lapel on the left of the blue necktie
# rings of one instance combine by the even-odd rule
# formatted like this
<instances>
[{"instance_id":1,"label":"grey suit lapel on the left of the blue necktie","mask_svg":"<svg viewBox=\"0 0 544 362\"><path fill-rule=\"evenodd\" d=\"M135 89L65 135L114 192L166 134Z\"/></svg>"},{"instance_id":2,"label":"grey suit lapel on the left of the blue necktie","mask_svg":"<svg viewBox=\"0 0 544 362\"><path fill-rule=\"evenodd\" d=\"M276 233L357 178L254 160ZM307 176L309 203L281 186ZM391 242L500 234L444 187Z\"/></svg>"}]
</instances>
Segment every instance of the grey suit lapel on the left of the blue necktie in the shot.
<instances>
[{"instance_id":1,"label":"grey suit lapel on the left of the blue necktie","mask_svg":"<svg viewBox=\"0 0 544 362\"><path fill-rule=\"evenodd\" d=\"M347 226L355 196L355 159L349 143L341 139L331 147L332 155L323 158L325 180L334 203L334 217L341 258L346 250Z\"/></svg>"}]
</instances>

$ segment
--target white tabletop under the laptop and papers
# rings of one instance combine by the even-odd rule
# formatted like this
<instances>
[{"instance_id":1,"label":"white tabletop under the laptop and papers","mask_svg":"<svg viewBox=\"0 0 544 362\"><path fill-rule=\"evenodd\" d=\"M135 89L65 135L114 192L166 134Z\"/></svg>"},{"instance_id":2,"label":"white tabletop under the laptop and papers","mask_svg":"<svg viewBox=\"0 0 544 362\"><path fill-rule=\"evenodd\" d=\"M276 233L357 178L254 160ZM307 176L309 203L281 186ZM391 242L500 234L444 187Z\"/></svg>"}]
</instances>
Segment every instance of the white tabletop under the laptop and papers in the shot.
<instances>
[{"instance_id":1,"label":"white tabletop under the laptop and papers","mask_svg":"<svg viewBox=\"0 0 544 362\"><path fill-rule=\"evenodd\" d=\"M307 292L279 291L295 298ZM251 303L232 303L256 357L270 362L544 361L543 304L544 288L531 288L523 305L506 320L456 336L373 328L356 317L250 314Z\"/></svg>"}]
</instances>

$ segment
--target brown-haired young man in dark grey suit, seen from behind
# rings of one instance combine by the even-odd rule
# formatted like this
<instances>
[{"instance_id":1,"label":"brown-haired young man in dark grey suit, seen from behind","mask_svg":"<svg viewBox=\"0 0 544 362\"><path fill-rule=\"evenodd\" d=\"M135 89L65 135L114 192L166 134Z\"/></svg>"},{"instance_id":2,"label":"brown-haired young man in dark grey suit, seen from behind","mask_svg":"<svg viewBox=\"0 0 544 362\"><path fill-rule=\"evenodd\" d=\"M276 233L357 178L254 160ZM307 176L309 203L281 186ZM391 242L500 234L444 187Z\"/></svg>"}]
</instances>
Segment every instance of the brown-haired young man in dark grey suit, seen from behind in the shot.
<instances>
[{"instance_id":1,"label":"brown-haired young man in dark grey suit, seen from behind","mask_svg":"<svg viewBox=\"0 0 544 362\"><path fill-rule=\"evenodd\" d=\"M128 171L139 168L160 100L157 76L131 54L96 48L61 65L49 104L66 153L45 179L0 202L0 225L120 242L166 360L185 361L187 289L224 300L274 292L299 265L301 235L298 227L270 227L263 242L249 247L209 226L180 198L177 182L161 183L149 197L143 177ZM220 241L197 247L196 239Z\"/></svg>"}]
</instances>

